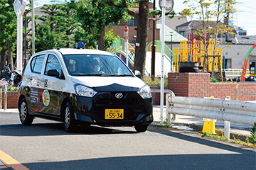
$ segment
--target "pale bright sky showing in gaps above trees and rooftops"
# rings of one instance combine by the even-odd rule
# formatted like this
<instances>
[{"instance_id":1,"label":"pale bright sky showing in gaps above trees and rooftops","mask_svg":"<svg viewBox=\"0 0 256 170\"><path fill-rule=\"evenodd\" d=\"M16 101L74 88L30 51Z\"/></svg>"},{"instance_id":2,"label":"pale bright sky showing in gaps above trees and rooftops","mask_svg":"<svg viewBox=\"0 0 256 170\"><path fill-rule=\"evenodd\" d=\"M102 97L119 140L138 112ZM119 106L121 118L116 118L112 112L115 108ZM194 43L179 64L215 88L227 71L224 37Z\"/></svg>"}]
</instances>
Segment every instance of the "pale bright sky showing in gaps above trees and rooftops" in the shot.
<instances>
[{"instance_id":1,"label":"pale bright sky showing in gaps above trees and rooftops","mask_svg":"<svg viewBox=\"0 0 256 170\"><path fill-rule=\"evenodd\" d=\"M48 4L50 0L35 0L35 6L42 6ZM53 0L65 1L65 0ZM153 0L150 0L153 1ZM256 0L237 0L238 4L235 5L237 13L233 14L234 26L238 26L243 30L247 30L247 35L256 35ZM182 4L183 0L174 0L174 10L176 13L186 8ZM156 0L156 4L159 4Z\"/></svg>"}]
</instances>

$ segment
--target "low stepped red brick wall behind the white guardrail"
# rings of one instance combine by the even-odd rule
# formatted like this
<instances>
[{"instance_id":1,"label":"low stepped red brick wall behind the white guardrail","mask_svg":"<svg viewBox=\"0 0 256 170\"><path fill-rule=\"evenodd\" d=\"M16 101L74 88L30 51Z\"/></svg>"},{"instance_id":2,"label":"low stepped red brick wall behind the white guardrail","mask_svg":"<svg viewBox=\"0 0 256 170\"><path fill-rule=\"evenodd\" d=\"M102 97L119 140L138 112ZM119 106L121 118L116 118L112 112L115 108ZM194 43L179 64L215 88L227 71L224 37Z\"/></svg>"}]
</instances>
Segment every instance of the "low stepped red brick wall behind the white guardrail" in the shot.
<instances>
[{"instance_id":1,"label":"low stepped red brick wall behind the white guardrail","mask_svg":"<svg viewBox=\"0 0 256 170\"><path fill-rule=\"evenodd\" d=\"M230 96L235 100L235 89L238 89L238 101L256 101L256 83L210 83L209 73L169 73L168 89L176 96L210 97L225 99ZM250 96L251 94L255 96Z\"/></svg>"}]
</instances>

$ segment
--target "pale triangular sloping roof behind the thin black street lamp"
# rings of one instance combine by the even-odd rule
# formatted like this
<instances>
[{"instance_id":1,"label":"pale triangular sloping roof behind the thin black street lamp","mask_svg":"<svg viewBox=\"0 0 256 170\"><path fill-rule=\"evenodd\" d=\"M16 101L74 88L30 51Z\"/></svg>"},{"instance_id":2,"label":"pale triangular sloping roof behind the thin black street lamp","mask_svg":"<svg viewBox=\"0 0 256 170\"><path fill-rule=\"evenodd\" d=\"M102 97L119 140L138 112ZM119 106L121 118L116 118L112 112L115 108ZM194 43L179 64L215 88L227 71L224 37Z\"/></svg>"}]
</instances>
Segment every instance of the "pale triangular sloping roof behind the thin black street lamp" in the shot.
<instances>
[{"instance_id":1,"label":"pale triangular sloping roof behind the thin black street lamp","mask_svg":"<svg viewBox=\"0 0 256 170\"><path fill-rule=\"evenodd\" d=\"M160 29L160 38L161 38L161 23L157 23L156 24L156 28ZM188 40L187 38L183 37L182 35L180 35L179 33L177 33L175 30L169 28L168 26L164 27L164 41L165 42L181 42L181 40ZM174 35L172 36L172 40L171 40L171 32L174 33Z\"/></svg>"}]
</instances>

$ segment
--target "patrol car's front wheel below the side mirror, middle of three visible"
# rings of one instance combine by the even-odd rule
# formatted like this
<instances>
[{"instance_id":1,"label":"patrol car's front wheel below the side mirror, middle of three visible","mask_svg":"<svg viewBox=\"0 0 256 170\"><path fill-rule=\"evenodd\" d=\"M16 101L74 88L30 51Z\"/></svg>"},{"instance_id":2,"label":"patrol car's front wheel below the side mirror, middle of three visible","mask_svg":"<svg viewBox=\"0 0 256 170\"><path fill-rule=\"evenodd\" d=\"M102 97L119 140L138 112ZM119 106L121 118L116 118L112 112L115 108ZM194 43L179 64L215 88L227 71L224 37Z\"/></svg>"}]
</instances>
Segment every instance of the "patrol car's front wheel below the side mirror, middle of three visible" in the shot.
<instances>
[{"instance_id":1,"label":"patrol car's front wheel below the side mirror, middle of three visible","mask_svg":"<svg viewBox=\"0 0 256 170\"><path fill-rule=\"evenodd\" d=\"M67 132L74 132L75 128L77 128L73 107L70 102L67 102L64 108L64 128Z\"/></svg>"}]
</instances>

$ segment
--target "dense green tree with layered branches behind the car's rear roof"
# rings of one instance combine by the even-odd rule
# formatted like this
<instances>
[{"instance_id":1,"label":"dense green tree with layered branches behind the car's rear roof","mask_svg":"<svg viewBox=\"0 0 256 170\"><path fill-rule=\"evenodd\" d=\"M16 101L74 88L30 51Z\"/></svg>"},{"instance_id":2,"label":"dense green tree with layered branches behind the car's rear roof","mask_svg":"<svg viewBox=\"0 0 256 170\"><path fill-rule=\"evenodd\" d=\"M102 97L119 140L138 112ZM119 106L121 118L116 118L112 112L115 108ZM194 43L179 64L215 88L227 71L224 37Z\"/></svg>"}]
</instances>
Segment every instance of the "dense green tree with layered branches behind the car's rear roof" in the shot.
<instances>
[{"instance_id":1,"label":"dense green tree with layered branches behind the car's rear roof","mask_svg":"<svg viewBox=\"0 0 256 170\"><path fill-rule=\"evenodd\" d=\"M75 20L76 7L75 1L41 7L46 15L39 17L43 22L36 25L36 50L71 47L71 44L75 44L72 35L75 29L80 28Z\"/></svg>"}]
</instances>

